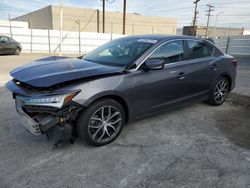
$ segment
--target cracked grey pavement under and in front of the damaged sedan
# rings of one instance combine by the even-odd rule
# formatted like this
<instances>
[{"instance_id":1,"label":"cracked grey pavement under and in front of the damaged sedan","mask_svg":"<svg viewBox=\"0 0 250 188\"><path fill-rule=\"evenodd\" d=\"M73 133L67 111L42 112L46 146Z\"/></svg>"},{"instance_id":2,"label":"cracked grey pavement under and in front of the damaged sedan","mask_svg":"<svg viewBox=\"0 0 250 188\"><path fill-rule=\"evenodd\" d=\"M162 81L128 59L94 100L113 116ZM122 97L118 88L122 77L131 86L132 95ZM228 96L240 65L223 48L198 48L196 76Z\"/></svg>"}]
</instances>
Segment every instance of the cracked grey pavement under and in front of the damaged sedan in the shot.
<instances>
[{"instance_id":1,"label":"cracked grey pavement under and in front of the damaged sedan","mask_svg":"<svg viewBox=\"0 0 250 188\"><path fill-rule=\"evenodd\" d=\"M188 104L128 124L103 147L77 139L52 151L20 125L1 87L0 187L250 187L248 66L222 106Z\"/></svg>"}]
</instances>

